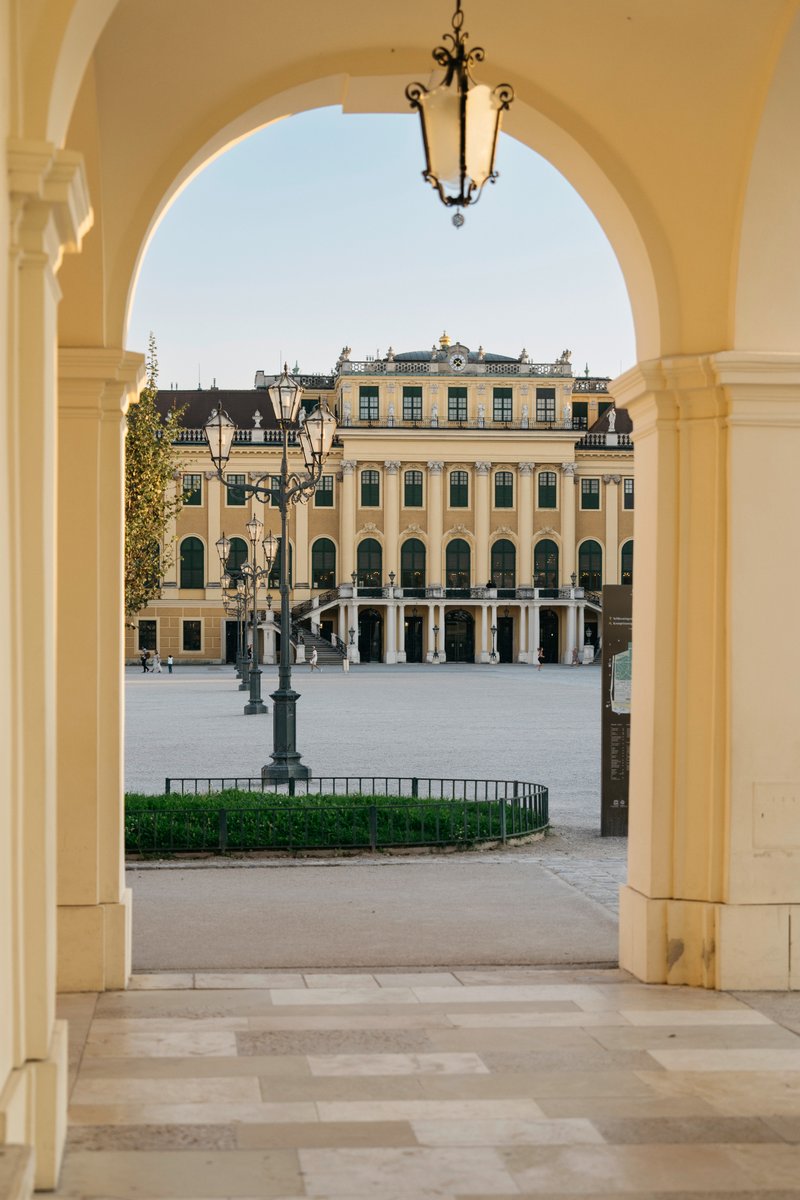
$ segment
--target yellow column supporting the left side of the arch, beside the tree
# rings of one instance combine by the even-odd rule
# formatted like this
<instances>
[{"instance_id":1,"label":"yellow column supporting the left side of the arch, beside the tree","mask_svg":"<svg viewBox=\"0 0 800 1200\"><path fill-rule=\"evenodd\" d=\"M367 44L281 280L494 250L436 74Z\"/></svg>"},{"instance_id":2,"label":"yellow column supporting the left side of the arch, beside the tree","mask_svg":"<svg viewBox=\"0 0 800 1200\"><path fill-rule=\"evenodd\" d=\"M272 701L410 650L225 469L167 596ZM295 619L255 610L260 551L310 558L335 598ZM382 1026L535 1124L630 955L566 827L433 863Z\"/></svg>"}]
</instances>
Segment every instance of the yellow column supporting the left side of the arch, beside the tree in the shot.
<instances>
[{"instance_id":1,"label":"yellow column supporting the left side of the arch, beside the tree","mask_svg":"<svg viewBox=\"0 0 800 1200\"><path fill-rule=\"evenodd\" d=\"M58 814L61 991L124 988L125 413L143 358L59 353ZM76 564L80 563L80 571Z\"/></svg>"}]
</instances>

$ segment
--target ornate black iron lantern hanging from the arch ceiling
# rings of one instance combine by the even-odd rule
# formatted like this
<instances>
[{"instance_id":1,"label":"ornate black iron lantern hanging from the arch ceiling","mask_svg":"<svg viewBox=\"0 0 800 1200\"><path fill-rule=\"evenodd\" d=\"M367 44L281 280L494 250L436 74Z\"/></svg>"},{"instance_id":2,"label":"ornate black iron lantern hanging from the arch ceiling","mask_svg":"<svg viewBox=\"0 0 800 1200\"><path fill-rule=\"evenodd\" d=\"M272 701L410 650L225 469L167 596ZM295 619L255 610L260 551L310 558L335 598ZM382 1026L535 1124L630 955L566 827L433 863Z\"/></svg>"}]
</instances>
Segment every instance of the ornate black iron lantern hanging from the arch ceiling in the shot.
<instances>
[{"instance_id":1,"label":"ornate black iron lantern hanging from the arch ceiling","mask_svg":"<svg viewBox=\"0 0 800 1200\"><path fill-rule=\"evenodd\" d=\"M513 100L513 88L507 83L489 88L471 77L470 68L482 62L480 46L467 49L468 35L462 31L464 14L456 0L452 32L445 34L447 46L437 46L433 58L444 68L444 79L435 88L411 83L405 96L420 114L426 169L422 178L435 187L439 199L447 208L475 204L487 180L494 182L494 154L503 113ZM461 212L453 224L464 223Z\"/></svg>"}]
</instances>

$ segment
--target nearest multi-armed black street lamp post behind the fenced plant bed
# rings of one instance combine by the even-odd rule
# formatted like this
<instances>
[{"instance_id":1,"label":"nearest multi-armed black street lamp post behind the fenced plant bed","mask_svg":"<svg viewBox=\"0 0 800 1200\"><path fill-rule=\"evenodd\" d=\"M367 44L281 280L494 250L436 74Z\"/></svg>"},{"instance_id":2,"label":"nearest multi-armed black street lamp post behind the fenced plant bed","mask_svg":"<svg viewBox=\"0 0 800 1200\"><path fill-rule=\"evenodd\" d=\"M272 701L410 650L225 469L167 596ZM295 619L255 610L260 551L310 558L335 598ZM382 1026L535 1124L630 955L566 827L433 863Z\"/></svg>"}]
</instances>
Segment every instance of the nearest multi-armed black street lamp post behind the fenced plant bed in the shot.
<instances>
[{"instance_id":1,"label":"nearest multi-armed black street lamp post behind the fenced plant bed","mask_svg":"<svg viewBox=\"0 0 800 1200\"><path fill-rule=\"evenodd\" d=\"M330 454L336 436L337 421L324 404L309 413L297 431L306 473L299 475L289 470L289 428L297 420L300 410L300 384L291 378L284 364L283 373L269 389L278 428L282 432L281 474L277 486L271 475L263 475L253 482L245 482L245 496L255 496L270 503L281 514L281 667L277 691L271 694L272 706L272 762L261 769L261 778L276 782L291 779L308 779L311 770L300 761L296 749L296 703L300 698L291 688L291 613L289 608L289 553L288 512L290 504L307 502L317 490L323 466ZM224 468L236 433L236 426L228 414L216 409L206 421L205 438L217 478L224 482ZM266 540L266 539L265 539ZM273 559L272 559L273 562Z\"/></svg>"}]
</instances>

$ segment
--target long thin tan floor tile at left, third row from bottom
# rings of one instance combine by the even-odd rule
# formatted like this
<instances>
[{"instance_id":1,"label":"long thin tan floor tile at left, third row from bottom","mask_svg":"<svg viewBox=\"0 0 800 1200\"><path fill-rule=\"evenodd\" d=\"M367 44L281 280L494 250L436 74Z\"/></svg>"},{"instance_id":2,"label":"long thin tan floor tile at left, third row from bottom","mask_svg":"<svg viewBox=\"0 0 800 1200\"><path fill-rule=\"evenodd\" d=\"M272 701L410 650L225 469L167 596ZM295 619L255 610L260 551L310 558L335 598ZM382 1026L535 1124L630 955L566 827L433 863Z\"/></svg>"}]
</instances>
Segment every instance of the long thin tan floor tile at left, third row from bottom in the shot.
<instances>
[{"instance_id":1,"label":"long thin tan floor tile at left, third row from bottom","mask_svg":"<svg viewBox=\"0 0 800 1200\"><path fill-rule=\"evenodd\" d=\"M306 1102L252 1104L80 1104L70 1109L70 1124L78 1126L231 1126L317 1121L317 1109Z\"/></svg>"}]
</instances>

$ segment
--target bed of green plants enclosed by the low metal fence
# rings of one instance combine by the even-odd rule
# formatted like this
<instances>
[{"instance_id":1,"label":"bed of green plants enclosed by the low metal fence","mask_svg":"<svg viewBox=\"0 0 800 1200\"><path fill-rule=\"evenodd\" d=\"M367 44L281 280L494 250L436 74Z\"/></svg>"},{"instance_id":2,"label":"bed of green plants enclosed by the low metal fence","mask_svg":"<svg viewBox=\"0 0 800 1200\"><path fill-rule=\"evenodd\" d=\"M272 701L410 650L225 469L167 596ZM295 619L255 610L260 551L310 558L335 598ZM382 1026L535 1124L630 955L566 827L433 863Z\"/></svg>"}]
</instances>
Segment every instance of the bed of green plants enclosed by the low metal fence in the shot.
<instances>
[{"instance_id":1,"label":"bed of green plants enclosed by the low metal fence","mask_svg":"<svg viewBox=\"0 0 800 1200\"><path fill-rule=\"evenodd\" d=\"M501 814L505 809L505 814ZM506 800L410 800L399 796L284 796L224 791L213 796L128 793L125 848L180 851L321 850L470 845L546 826Z\"/></svg>"}]
</instances>

